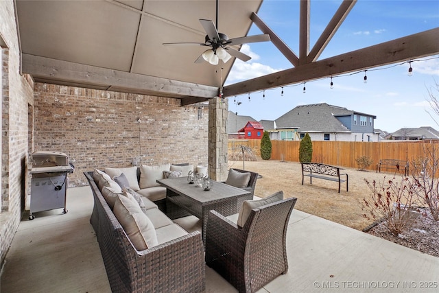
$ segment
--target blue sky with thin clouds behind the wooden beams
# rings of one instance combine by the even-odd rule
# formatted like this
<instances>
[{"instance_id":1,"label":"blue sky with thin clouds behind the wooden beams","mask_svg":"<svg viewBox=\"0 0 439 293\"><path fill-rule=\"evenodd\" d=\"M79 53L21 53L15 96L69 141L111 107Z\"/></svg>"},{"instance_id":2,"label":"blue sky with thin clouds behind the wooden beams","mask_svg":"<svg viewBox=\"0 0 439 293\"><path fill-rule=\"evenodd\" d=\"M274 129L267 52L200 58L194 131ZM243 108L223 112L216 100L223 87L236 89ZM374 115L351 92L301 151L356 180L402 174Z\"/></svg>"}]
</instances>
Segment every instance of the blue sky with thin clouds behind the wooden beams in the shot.
<instances>
[{"instance_id":1,"label":"blue sky with thin clouds behind the wooden beams","mask_svg":"<svg viewBox=\"0 0 439 293\"><path fill-rule=\"evenodd\" d=\"M341 0L311 0L310 49L327 26ZM276 34L298 54L299 31L298 0L264 0L258 15ZM337 30L319 60L348 51L416 34L439 27L438 0L358 0L344 23ZM261 34L253 25L248 35ZM439 37L439 36L438 36ZM271 42L243 45L241 51L252 60L236 60L226 84L292 68L285 57ZM303 104L326 102L349 110L377 116L375 128L394 132L399 128L432 126L439 130L429 106L430 93L439 98L439 56L415 59L411 63L413 75L408 76L409 63L372 68L366 71L368 82L364 83L364 71L291 84L283 88L268 89L229 97L229 110L238 115L256 119L274 120L292 108ZM433 89L432 89L433 88ZM236 101L236 102L235 102ZM237 102L241 104L237 105ZM432 119L429 113L434 117Z\"/></svg>"}]
</instances>

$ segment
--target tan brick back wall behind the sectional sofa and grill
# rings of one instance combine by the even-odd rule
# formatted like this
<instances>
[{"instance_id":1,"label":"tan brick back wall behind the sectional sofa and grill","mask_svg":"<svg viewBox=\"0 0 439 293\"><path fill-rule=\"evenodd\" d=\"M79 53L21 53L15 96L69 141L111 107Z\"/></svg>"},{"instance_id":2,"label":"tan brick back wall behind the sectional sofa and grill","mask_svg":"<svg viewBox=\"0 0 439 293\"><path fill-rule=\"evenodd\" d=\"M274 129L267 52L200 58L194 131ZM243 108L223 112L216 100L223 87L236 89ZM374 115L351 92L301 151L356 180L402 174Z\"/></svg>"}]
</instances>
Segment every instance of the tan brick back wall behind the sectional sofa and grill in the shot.
<instances>
[{"instance_id":1,"label":"tan brick back wall behind the sectional sofa and grill","mask_svg":"<svg viewBox=\"0 0 439 293\"><path fill-rule=\"evenodd\" d=\"M140 118L140 123L137 119ZM207 163L208 108L179 99L36 83L34 150L75 159L69 186L86 185L82 172L104 167Z\"/></svg>"}]
</instances>

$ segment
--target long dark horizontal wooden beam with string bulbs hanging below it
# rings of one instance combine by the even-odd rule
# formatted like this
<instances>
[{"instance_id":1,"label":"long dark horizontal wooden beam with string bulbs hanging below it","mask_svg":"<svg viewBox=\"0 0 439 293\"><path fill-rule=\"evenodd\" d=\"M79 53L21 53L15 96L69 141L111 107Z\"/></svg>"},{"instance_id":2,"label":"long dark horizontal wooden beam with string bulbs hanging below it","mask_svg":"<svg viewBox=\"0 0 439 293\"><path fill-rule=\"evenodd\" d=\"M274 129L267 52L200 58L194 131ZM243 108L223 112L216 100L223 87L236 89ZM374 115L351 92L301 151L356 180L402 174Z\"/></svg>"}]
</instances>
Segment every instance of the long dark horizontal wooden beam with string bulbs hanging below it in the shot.
<instances>
[{"instance_id":1,"label":"long dark horizontal wooden beam with string bulbs hanging below it","mask_svg":"<svg viewBox=\"0 0 439 293\"><path fill-rule=\"evenodd\" d=\"M224 97L433 56L439 54L438 36L439 27L292 69L278 71L260 78L230 84L223 89Z\"/></svg>"}]
</instances>

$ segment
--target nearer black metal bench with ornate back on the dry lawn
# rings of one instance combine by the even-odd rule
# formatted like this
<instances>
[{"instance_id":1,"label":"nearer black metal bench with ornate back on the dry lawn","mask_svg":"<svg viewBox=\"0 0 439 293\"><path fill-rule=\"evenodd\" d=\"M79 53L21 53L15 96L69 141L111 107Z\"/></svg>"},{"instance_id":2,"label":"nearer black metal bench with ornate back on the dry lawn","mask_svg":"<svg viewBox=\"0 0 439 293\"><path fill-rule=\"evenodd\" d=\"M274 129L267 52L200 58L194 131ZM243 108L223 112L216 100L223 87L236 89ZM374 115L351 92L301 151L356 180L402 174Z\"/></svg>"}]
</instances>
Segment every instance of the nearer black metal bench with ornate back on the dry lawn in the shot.
<instances>
[{"instance_id":1,"label":"nearer black metal bench with ornate back on the dry lawn","mask_svg":"<svg viewBox=\"0 0 439 293\"><path fill-rule=\"evenodd\" d=\"M309 172L305 174L305 172ZM346 175L346 180L340 178L341 175ZM346 191L348 191L348 174L340 174L340 168L331 165L320 163L302 163L302 185L305 176L309 177L309 183L313 183L313 178L324 180L331 180L338 182L338 193L340 194L340 185L346 181Z\"/></svg>"}]
</instances>

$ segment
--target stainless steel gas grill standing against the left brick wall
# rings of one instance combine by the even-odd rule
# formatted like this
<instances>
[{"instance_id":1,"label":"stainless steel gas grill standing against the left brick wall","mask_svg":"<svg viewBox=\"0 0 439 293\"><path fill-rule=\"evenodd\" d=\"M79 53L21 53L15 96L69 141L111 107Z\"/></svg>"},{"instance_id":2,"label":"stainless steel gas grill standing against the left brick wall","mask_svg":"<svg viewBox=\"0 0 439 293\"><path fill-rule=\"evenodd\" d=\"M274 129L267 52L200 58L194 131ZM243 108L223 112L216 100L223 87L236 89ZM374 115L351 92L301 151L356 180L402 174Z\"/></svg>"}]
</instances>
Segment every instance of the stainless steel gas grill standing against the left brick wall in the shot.
<instances>
[{"instance_id":1,"label":"stainless steel gas grill standing against the left brick wall","mask_svg":"<svg viewBox=\"0 0 439 293\"><path fill-rule=\"evenodd\" d=\"M33 213L61 209L67 213L66 195L69 179L73 173L73 160L63 152L34 152L32 154L31 192L26 202L29 207L29 220L34 220Z\"/></svg>"}]
</instances>

